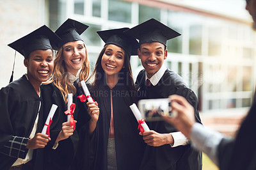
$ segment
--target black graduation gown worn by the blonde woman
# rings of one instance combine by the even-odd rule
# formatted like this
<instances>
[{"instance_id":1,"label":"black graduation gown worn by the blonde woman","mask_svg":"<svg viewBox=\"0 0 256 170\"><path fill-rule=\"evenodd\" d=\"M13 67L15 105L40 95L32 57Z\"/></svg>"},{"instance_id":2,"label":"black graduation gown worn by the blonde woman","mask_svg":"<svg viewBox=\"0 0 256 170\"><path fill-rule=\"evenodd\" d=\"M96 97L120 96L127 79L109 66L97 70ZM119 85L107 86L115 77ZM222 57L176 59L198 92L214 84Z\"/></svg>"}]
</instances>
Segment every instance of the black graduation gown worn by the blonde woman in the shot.
<instances>
[{"instance_id":1,"label":"black graduation gown worn by the blonde woman","mask_svg":"<svg viewBox=\"0 0 256 170\"><path fill-rule=\"evenodd\" d=\"M77 83L75 86L78 89ZM79 92L77 91L77 93ZM77 93L73 95L73 103L76 104L76 109L73 114L74 120L77 120L77 116L81 111L81 109L79 109L81 102L79 101L79 98L77 98ZM45 100L45 111L49 111L52 104L58 105L58 109L52 118L52 124L50 127L51 141L47 144L47 147L45 147L45 169L75 169L74 159L79 142L78 130L80 124L77 122L76 130L73 135L68 137L68 139L60 141L58 148L53 150L52 146L54 146L56 138L61 131L62 123L67 121L67 115L64 112L69 108L67 108L67 105L63 100L61 91L56 88L53 83L42 86L42 97ZM49 112L45 112L44 120L47 119L48 113ZM88 113L86 111L85 113L81 112L81 114Z\"/></svg>"}]
</instances>

